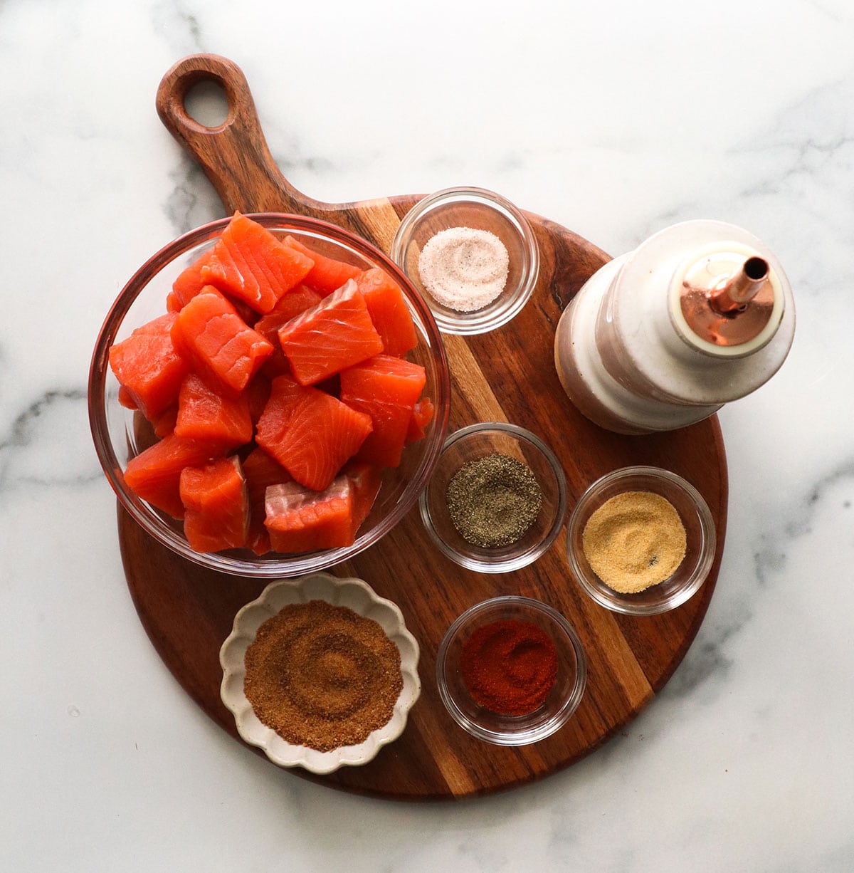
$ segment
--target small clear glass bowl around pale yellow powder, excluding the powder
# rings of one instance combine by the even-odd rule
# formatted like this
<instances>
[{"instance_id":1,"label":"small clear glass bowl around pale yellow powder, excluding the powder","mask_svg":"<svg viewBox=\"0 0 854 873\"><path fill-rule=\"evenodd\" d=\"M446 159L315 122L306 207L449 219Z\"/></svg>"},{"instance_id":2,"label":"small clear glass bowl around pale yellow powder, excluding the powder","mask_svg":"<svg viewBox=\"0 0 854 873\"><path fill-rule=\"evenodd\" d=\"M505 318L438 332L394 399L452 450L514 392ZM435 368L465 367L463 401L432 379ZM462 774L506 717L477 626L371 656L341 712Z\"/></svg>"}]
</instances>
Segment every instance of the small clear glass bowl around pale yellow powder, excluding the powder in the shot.
<instances>
[{"instance_id":1,"label":"small clear glass bowl around pale yellow powder, excluding the powder","mask_svg":"<svg viewBox=\"0 0 854 873\"><path fill-rule=\"evenodd\" d=\"M686 533L686 553L665 581L637 594L621 594L605 585L584 556L582 536L593 512L624 491L652 491L679 513ZM600 606L625 615L659 615L681 606L700 590L714 561L714 519L700 492L685 479L659 467L623 467L594 482L570 514L566 552L572 574Z\"/></svg>"}]
</instances>

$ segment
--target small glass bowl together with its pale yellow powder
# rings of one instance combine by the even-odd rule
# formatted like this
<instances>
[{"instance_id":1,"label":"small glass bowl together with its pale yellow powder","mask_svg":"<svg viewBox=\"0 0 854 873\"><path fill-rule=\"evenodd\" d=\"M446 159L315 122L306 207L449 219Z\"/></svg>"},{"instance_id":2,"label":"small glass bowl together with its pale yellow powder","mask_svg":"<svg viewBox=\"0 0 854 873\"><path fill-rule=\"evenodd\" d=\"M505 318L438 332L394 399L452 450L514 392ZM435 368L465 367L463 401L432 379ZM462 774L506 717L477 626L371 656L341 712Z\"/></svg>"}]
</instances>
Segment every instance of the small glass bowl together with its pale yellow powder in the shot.
<instances>
[{"instance_id":1,"label":"small glass bowl together with its pale yellow powder","mask_svg":"<svg viewBox=\"0 0 854 873\"><path fill-rule=\"evenodd\" d=\"M572 575L611 612L660 615L695 595L714 562L714 519L686 479L660 467L598 478L566 524Z\"/></svg>"}]
</instances>

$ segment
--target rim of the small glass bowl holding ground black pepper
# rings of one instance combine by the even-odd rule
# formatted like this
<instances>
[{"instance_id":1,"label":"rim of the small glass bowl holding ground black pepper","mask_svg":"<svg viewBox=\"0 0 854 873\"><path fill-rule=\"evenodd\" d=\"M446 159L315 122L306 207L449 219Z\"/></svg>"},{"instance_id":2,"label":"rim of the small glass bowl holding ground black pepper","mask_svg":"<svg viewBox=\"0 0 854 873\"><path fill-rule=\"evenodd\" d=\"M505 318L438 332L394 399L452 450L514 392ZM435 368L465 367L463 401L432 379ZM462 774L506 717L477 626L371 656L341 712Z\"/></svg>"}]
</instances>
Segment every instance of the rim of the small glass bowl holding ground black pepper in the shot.
<instances>
[{"instance_id":1,"label":"rim of the small glass bowl holding ground black pepper","mask_svg":"<svg viewBox=\"0 0 854 873\"><path fill-rule=\"evenodd\" d=\"M461 440L464 440L469 436L482 435L490 431L497 431L504 435L513 436L517 441L524 441L538 451L554 475L554 502L557 505L557 509L550 527L545 531L541 540L537 540L536 543L529 546L529 548L522 553L507 553L505 555L496 554L494 558L487 559L486 557L478 557L475 553L461 552L459 549L454 548L454 546L449 545L446 540L442 539L434 522L434 514L430 510L430 489L434 483L436 473L441 469L443 462L447 460L448 450L453 449L455 443L459 443ZM540 482L539 484L540 487L543 488L543 483ZM545 491L544 488L543 491ZM427 533L431 540L434 541L435 546L437 546L441 553L447 558L453 560L454 563L459 564L461 567L465 567L468 570L475 570L479 573L508 573L511 570L518 570L532 564L534 561L542 557L543 554L550 549L555 540L557 540L557 536L560 533L561 527L564 525L564 520L566 519L566 514L569 508L569 490L566 484L566 474L563 465L560 463L555 452L551 450L550 446L545 443L540 436L537 436L532 431L527 430L518 424L509 422L477 422L474 424L468 424L458 430L454 430L453 433L445 438L445 442L442 444L441 452L439 453L439 460L434 466L433 474L427 482L427 486L420 493L418 505L421 522L427 530ZM487 550L484 550L484 555L486 553Z\"/></svg>"}]
</instances>

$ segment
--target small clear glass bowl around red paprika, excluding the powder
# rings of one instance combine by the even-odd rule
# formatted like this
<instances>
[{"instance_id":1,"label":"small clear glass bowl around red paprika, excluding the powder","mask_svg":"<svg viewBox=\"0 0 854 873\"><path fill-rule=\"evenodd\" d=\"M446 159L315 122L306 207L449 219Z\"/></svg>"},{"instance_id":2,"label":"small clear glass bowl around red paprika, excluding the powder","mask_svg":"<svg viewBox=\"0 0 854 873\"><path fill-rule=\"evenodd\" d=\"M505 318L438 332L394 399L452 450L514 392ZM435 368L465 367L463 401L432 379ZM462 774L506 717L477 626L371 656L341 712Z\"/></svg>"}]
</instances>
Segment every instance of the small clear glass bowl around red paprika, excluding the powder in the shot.
<instances>
[{"instance_id":1,"label":"small clear glass bowl around red paprika, excluding the powder","mask_svg":"<svg viewBox=\"0 0 854 873\"><path fill-rule=\"evenodd\" d=\"M522 716L501 715L479 705L460 672L463 643L484 624L516 619L543 629L557 649L557 678L538 709ZM436 682L454 721L472 736L496 746L526 746L563 727L584 696L587 662L570 622L557 610L529 597L494 597L468 608L447 629L436 656Z\"/></svg>"}]
</instances>

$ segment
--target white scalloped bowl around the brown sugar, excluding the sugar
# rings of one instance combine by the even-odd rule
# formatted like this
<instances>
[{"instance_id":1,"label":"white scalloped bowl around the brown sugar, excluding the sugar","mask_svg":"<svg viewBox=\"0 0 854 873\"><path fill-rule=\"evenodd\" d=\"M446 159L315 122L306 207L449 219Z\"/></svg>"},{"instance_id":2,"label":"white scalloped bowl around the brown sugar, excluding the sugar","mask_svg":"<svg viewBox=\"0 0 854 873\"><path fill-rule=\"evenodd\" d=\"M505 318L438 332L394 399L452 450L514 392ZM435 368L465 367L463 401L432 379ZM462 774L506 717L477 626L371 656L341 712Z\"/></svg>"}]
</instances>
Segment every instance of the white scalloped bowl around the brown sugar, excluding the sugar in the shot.
<instances>
[{"instance_id":1,"label":"white scalloped bowl around the brown sugar, excluding the sugar","mask_svg":"<svg viewBox=\"0 0 854 873\"><path fill-rule=\"evenodd\" d=\"M257 629L291 603L313 600L347 607L357 615L373 619L400 651L403 689L394 705L392 718L358 746L340 746L331 752L318 752L308 746L286 742L272 728L261 723L243 693L243 680L246 677L244 656L255 640ZM274 764L302 766L311 773L331 773L340 766L366 764L376 757L383 746L400 737L407 726L409 710L421 691L418 657L418 643L407 630L400 609L392 601L379 597L365 581L338 579L326 573L283 579L270 582L256 600L247 603L235 616L234 627L220 649L220 697L234 714L237 732L243 740L250 746L263 749Z\"/></svg>"}]
</instances>

